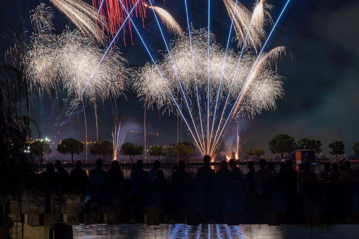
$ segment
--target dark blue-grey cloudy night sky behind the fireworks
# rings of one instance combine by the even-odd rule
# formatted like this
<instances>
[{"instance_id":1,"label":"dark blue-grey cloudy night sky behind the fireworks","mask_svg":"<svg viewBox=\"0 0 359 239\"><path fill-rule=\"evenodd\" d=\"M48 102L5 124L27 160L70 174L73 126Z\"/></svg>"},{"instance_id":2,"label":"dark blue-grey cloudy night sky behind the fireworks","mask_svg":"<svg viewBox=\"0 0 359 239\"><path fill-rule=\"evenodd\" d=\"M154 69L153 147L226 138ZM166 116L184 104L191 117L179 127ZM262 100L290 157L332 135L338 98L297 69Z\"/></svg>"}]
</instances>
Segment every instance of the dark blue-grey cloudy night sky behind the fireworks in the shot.
<instances>
[{"instance_id":1,"label":"dark blue-grey cloudy night sky behind the fireworks","mask_svg":"<svg viewBox=\"0 0 359 239\"><path fill-rule=\"evenodd\" d=\"M91 1L87 0L91 4ZM207 27L206 0L189 0L190 21L194 28ZM216 41L225 46L227 41L230 18L220 0L213 0L211 8L211 31ZM240 1L252 8L254 0ZM275 20L285 4L285 0L267 0L274 6L271 16ZM6 1L0 6L0 29L4 35L0 44L0 63L5 62L5 51L14 44L13 34L29 36L32 32L29 11L40 3L48 6L47 0L14 0ZM184 2L181 0L156 0L155 5L168 10L186 29ZM65 29L65 25L75 28L57 9L54 25L56 33ZM149 9L148 9L149 10ZM284 77L283 99L276 101L277 109L263 111L254 119L240 120L241 141L243 151L250 147L264 147L270 156L268 141L278 133L290 134L298 141L300 138L321 140L323 152L329 157L328 144L342 140L345 144L345 154L354 154L352 146L359 142L359 81L357 66L359 63L358 22L359 2L353 0L292 0L283 17L276 27L275 34L270 39L268 49L276 46L286 47L286 56L278 62L278 74ZM134 19L136 26L141 26L141 19ZM153 13L147 12L145 28L140 28L141 35L153 56L161 59L165 47ZM27 32L27 33L26 33ZM268 29L267 29L268 32ZM149 57L135 31L132 32L134 44L131 45L127 35L126 46L120 38L116 46L120 47L123 57L129 62L129 67L143 66ZM166 39L173 35L166 34ZM236 47L236 43L230 46ZM121 121L121 132L126 133L125 141L144 144L144 103L136 97L132 89L124 92L126 97L116 100L118 118ZM65 94L59 94L63 98ZM54 142L73 137L85 141L85 124L82 109L79 109L79 119L76 114L65 117L67 105L59 100L60 119L57 113L55 94L52 99L46 94L41 97L32 95L31 116L39 124L42 137L52 138ZM98 103L98 140L112 140L114 100ZM95 115L91 105L85 107L87 118L88 141L96 141ZM78 120L80 124L78 124ZM64 122L64 123L63 123ZM61 124L62 123L62 124ZM224 140L224 145L236 139L236 129L232 127ZM129 131L137 133L130 133ZM340 134L337 135L337 130ZM168 115L168 111L158 111L156 107L146 113L146 131L149 133L147 145L167 145L177 143L177 116ZM139 133L141 132L141 133ZM156 135L156 134L159 135ZM191 138L183 126L180 129L179 140L190 141ZM55 143L56 144L56 143ZM54 145L55 145L54 144ZM53 148L51 157L65 158L56 153ZM85 153L75 158L84 158ZM242 154L243 155L243 154ZM95 156L89 155L89 159ZM334 156L335 157L335 156ZM67 157L66 157L67 158Z\"/></svg>"}]
</instances>

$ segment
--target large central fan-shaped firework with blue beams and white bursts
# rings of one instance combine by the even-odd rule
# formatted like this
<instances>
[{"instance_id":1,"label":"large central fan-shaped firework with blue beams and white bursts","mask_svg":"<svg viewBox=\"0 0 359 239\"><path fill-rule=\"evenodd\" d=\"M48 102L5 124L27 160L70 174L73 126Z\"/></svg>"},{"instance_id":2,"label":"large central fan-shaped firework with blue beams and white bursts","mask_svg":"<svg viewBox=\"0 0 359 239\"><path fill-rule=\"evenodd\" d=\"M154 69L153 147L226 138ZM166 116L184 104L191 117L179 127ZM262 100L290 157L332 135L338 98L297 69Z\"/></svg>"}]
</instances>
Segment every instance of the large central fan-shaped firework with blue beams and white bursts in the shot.
<instances>
[{"instance_id":1,"label":"large central fan-shaped firework with blue beams and white bursts","mask_svg":"<svg viewBox=\"0 0 359 239\"><path fill-rule=\"evenodd\" d=\"M221 48L207 30L192 29L188 35L172 42L161 62L147 63L133 75L133 87L145 102L179 111L202 154L216 155L233 119L232 113L238 117L245 114L253 117L263 109L275 108L275 100L283 94L283 82L270 67L284 52L284 47L262 54L266 41L258 55L243 53L246 44L253 49L261 45L263 35L258 29L263 29L265 23L260 20L265 15L265 7L262 1L257 7L254 15L241 16L246 24L239 22L238 14L233 14L233 25L237 24L245 32L240 53ZM251 31L252 21L257 30ZM241 38L241 34L238 33L237 38ZM174 97L175 92L181 93L180 99ZM181 103L186 110L181 109ZM221 115L216 111L222 112Z\"/></svg>"}]
</instances>

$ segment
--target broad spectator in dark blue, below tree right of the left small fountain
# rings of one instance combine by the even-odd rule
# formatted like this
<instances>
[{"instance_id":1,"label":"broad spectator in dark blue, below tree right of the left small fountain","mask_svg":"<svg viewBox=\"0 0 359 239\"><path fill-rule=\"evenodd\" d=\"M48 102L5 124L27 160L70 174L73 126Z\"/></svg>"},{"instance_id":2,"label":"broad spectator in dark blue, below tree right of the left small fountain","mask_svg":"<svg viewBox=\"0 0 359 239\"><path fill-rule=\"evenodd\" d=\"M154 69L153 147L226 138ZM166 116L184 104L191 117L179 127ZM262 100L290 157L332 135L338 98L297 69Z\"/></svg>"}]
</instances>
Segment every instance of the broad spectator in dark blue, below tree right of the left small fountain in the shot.
<instances>
[{"instance_id":1,"label":"broad spectator in dark blue, below tree right of the left small fountain","mask_svg":"<svg viewBox=\"0 0 359 239\"><path fill-rule=\"evenodd\" d=\"M145 192L145 187L150 183L150 174L142 169L142 160L137 160L136 170L131 173L130 182L132 185L131 194L142 195Z\"/></svg>"}]
</instances>

